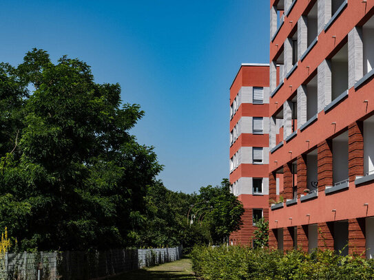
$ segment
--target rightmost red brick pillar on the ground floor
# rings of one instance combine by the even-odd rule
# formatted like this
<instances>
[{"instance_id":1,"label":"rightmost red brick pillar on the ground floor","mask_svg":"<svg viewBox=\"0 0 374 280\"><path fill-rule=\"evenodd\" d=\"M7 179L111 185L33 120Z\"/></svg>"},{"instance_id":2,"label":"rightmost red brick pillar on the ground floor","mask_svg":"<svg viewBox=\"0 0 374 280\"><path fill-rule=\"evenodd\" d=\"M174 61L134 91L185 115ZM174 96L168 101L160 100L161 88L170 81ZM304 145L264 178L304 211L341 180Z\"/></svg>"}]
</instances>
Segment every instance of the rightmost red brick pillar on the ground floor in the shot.
<instances>
[{"instance_id":1,"label":"rightmost red brick pillar on the ground floor","mask_svg":"<svg viewBox=\"0 0 374 280\"><path fill-rule=\"evenodd\" d=\"M365 218L348 220L348 244L349 254L358 254L365 257Z\"/></svg>"}]
</instances>

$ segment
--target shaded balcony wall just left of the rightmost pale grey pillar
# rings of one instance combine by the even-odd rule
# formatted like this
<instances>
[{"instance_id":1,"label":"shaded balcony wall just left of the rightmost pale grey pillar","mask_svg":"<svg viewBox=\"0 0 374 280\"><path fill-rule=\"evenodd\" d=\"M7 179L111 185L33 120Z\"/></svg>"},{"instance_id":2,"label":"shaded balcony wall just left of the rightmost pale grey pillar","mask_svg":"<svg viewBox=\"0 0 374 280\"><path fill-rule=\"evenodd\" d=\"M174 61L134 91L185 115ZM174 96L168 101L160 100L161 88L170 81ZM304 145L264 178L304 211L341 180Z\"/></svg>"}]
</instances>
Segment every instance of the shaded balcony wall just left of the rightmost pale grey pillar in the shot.
<instances>
[{"instance_id":1,"label":"shaded balcony wall just left of the rightmost pale grey pillar","mask_svg":"<svg viewBox=\"0 0 374 280\"><path fill-rule=\"evenodd\" d=\"M348 54L347 54L348 58ZM332 91L331 101L348 89L348 61L331 62Z\"/></svg>"}]
</instances>

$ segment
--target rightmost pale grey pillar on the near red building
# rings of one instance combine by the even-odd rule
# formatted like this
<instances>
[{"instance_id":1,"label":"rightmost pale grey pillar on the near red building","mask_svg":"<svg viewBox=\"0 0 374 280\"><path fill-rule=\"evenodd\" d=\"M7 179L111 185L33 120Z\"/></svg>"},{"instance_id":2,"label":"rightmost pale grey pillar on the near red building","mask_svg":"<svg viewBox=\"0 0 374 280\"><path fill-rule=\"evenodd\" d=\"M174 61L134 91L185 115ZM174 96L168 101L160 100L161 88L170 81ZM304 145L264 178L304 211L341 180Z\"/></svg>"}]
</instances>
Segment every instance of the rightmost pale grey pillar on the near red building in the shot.
<instances>
[{"instance_id":1,"label":"rightmost pale grey pillar on the near red building","mask_svg":"<svg viewBox=\"0 0 374 280\"><path fill-rule=\"evenodd\" d=\"M364 76L364 42L362 26L355 26L348 34L348 88Z\"/></svg>"}]
</instances>

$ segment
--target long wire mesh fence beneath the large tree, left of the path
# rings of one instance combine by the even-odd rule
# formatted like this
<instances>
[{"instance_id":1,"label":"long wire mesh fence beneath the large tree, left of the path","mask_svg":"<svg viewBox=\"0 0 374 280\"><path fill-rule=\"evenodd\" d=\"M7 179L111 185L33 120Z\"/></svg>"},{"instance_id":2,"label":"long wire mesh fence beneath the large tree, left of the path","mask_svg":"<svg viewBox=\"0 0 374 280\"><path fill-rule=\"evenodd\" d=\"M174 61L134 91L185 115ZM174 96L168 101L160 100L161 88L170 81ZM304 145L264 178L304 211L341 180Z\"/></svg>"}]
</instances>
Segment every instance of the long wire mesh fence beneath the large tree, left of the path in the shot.
<instances>
[{"instance_id":1,"label":"long wire mesh fence beneath the large tree, left of the path","mask_svg":"<svg viewBox=\"0 0 374 280\"><path fill-rule=\"evenodd\" d=\"M7 253L0 259L0 279L98 279L145 266L176 261L181 257L181 246L93 252Z\"/></svg>"}]
</instances>

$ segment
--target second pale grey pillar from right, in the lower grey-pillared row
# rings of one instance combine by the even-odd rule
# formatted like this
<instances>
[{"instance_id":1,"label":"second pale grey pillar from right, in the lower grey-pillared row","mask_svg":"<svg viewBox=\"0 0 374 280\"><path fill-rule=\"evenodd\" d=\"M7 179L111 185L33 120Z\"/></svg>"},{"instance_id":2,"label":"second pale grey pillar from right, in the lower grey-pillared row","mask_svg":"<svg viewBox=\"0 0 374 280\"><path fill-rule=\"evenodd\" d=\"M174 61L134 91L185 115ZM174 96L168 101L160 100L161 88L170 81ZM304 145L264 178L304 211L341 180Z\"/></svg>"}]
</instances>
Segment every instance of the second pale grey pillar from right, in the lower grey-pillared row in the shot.
<instances>
[{"instance_id":1,"label":"second pale grey pillar from right, in the lower grey-pillared row","mask_svg":"<svg viewBox=\"0 0 374 280\"><path fill-rule=\"evenodd\" d=\"M324 109L326 105L331 103L332 86L331 86L331 60L325 59L318 65L317 74L317 91L318 91L318 113Z\"/></svg>"}]
</instances>

